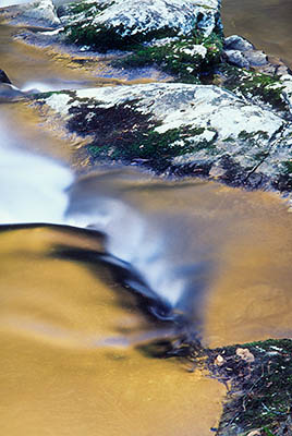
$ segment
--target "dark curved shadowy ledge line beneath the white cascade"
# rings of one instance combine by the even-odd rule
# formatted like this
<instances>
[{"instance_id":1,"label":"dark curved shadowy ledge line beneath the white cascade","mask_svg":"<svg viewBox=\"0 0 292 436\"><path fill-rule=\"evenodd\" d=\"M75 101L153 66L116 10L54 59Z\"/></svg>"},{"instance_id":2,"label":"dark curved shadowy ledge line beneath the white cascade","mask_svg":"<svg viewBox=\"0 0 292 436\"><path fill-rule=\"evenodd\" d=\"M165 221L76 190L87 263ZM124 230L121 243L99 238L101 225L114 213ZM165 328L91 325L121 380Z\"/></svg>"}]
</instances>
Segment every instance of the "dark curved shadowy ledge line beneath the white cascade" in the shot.
<instances>
[{"instance_id":1,"label":"dark curved shadowy ledge line beneath the white cascade","mask_svg":"<svg viewBox=\"0 0 292 436\"><path fill-rule=\"evenodd\" d=\"M53 243L45 254L46 257L54 261L73 262L86 268L97 279L100 277L100 268L104 267L110 271L110 276L118 288L113 288L117 292L118 305L125 311L138 311L143 316L148 319L150 325L157 329L155 340L151 340L151 335L138 336L135 338L137 346L144 350L148 350L149 355L155 356L173 356L180 354L179 348L185 341L195 342L198 340L195 325L193 322L194 316L190 317L187 305L190 300L185 296L184 310L175 310L169 302L160 298L159 293L151 290L146 279L133 267L130 263L124 262L115 256L106 252L106 244L108 237L101 232L92 229L74 228L71 226L58 226L46 223L25 223L25 225L3 225L0 226L0 234L5 232L16 232L21 230L48 230L60 233L60 235L72 237L78 239L88 239L90 243L96 241L99 250L89 250L77 246L77 244L70 243L61 245L58 242ZM80 242L80 240L76 242ZM74 241L74 239L73 239ZM194 268L188 267L194 274ZM135 308L133 308L133 296L135 298ZM192 299L191 295L188 295ZM119 327L117 332L122 337L129 334L129 328ZM157 340L156 336L159 332L167 332L168 339ZM135 334L135 330L132 331ZM163 336L162 335L162 336ZM191 337L192 335L192 337ZM148 340L147 340L148 339ZM139 344L142 342L150 343L147 346ZM108 343L112 343L108 341ZM161 347L163 344L163 347ZM149 351L150 350L150 351ZM159 352L158 352L159 350ZM163 350L163 351L162 351Z\"/></svg>"}]
</instances>

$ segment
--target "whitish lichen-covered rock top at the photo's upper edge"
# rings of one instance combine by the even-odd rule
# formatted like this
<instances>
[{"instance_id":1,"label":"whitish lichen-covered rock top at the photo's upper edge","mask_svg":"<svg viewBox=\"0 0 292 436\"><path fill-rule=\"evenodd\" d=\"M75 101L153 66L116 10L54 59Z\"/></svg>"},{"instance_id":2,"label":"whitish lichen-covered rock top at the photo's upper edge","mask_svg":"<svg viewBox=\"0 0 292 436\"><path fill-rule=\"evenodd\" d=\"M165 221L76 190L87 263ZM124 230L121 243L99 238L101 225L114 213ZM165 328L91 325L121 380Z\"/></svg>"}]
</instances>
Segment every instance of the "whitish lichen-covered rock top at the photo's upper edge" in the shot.
<instances>
[{"instance_id":1,"label":"whitish lichen-covered rock top at the photo's upper edge","mask_svg":"<svg viewBox=\"0 0 292 436\"><path fill-rule=\"evenodd\" d=\"M62 7L61 20L70 41L105 51L195 29L207 37L221 28L219 7L220 0L85 0Z\"/></svg>"}]
</instances>

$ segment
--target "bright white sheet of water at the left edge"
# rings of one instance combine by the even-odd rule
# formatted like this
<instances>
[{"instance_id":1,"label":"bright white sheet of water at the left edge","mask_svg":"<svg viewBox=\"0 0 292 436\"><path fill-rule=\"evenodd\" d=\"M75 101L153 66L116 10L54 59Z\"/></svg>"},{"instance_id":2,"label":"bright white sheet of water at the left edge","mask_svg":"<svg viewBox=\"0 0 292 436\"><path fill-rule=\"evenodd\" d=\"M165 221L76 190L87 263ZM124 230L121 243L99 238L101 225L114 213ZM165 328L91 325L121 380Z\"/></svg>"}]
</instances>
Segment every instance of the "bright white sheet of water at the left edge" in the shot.
<instances>
[{"instance_id":1,"label":"bright white sheet of water at the left edge","mask_svg":"<svg viewBox=\"0 0 292 436\"><path fill-rule=\"evenodd\" d=\"M0 223L63 223L72 181L65 167L17 149L0 124Z\"/></svg>"}]
</instances>

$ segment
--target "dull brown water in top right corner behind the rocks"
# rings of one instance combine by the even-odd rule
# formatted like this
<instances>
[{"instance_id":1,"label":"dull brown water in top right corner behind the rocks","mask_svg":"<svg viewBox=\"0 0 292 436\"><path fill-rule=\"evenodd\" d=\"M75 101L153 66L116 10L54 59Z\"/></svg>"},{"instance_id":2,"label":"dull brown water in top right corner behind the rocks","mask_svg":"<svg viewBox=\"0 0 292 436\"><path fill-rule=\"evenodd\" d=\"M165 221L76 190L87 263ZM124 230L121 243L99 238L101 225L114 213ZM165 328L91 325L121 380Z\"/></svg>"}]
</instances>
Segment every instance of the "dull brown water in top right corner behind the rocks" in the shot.
<instances>
[{"instance_id":1,"label":"dull brown water in top right corner behind the rocks","mask_svg":"<svg viewBox=\"0 0 292 436\"><path fill-rule=\"evenodd\" d=\"M292 68L291 0L222 0L226 36L238 34Z\"/></svg>"}]
</instances>

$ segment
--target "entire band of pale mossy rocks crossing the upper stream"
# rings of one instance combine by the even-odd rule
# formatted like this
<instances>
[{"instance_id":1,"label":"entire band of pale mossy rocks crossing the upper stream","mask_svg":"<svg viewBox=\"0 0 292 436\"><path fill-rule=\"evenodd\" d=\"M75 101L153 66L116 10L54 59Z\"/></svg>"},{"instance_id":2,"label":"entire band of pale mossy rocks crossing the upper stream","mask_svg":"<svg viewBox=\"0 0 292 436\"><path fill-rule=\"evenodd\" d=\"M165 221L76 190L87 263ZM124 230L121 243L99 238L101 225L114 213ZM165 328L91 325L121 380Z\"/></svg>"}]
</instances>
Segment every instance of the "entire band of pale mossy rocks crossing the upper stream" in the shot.
<instances>
[{"instance_id":1,"label":"entire band of pale mossy rocks crossing the upper stream","mask_svg":"<svg viewBox=\"0 0 292 436\"><path fill-rule=\"evenodd\" d=\"M102 57L106 76L155 81L31 96L47 120L59 118L69 133L86 136L93 166L139 165L159 174L290 192L290 70L239 36L224 39L218 1L56 8L46 0L4 9L2 16L56 27L19 37L72 57L82 52L80 64L92 63L95 74Z\"/></svg>"}]
</instances>

